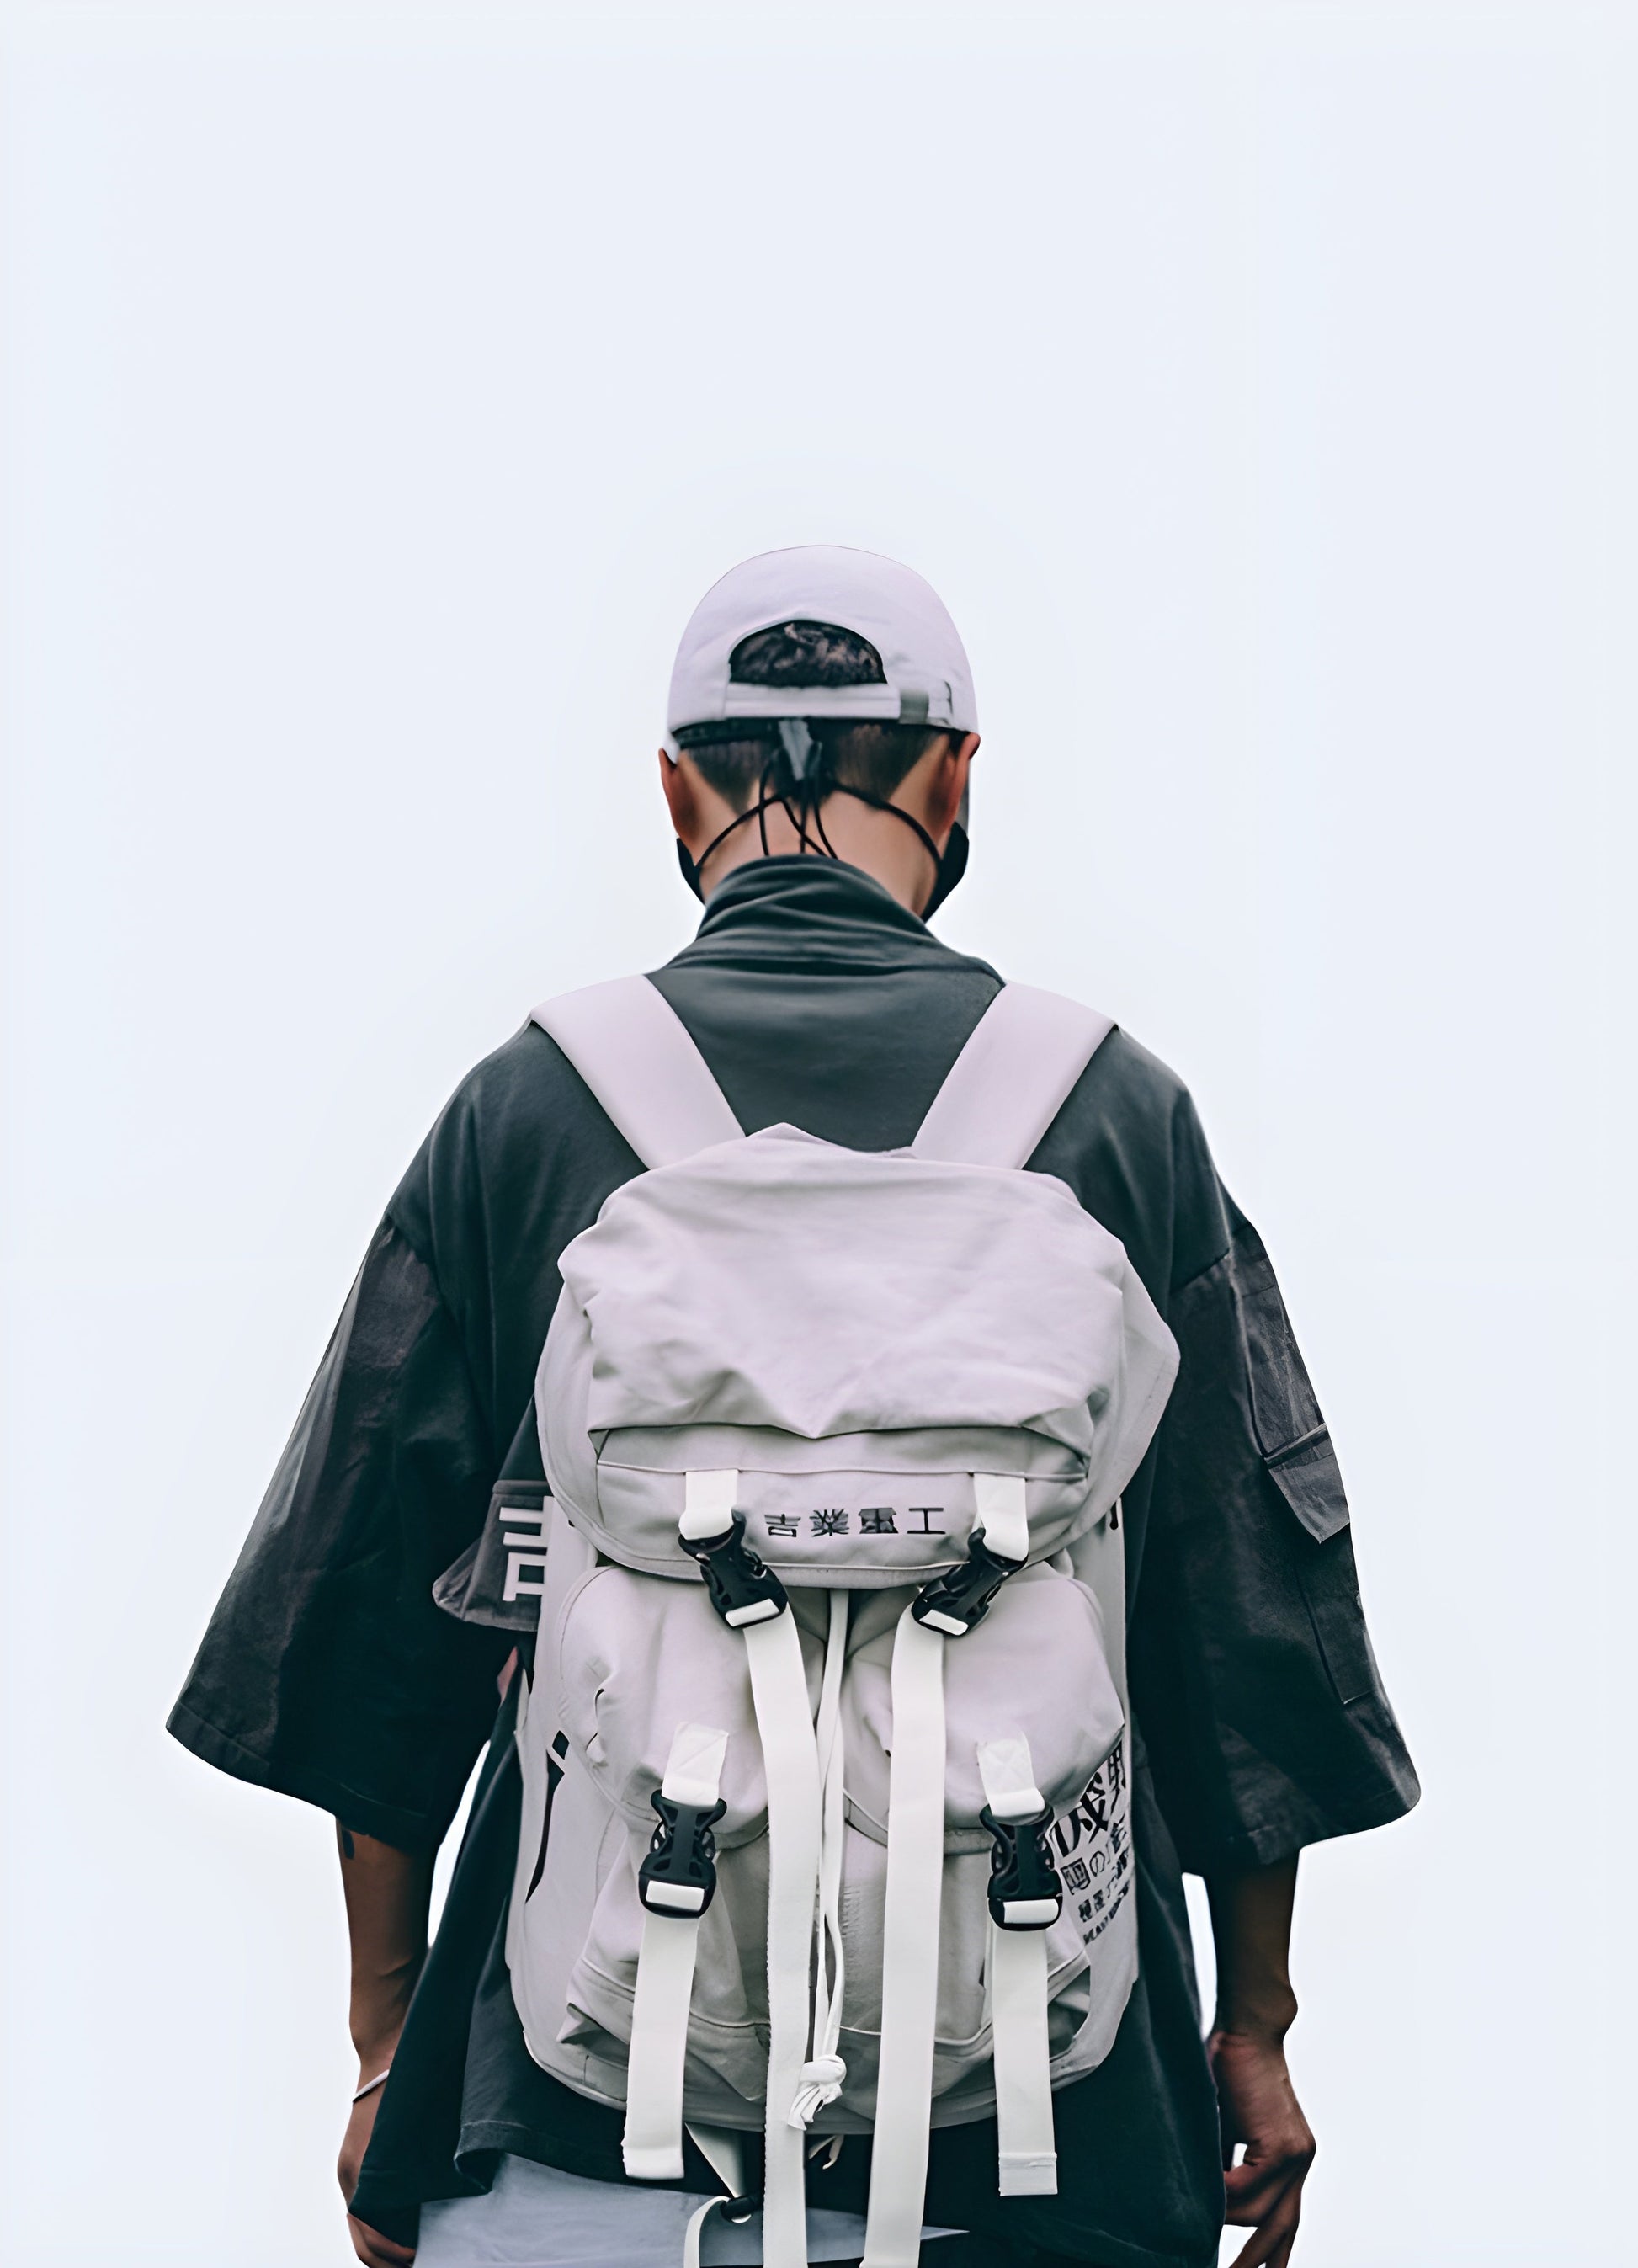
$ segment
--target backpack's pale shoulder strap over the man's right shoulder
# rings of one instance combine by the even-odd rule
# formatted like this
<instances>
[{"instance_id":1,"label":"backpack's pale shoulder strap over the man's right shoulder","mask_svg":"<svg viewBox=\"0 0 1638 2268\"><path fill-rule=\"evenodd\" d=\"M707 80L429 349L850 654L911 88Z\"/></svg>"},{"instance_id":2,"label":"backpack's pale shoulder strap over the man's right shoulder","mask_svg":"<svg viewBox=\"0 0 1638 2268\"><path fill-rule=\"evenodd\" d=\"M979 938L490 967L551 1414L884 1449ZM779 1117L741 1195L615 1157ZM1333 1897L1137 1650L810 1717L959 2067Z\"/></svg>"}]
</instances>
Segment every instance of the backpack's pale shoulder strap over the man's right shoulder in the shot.
<instances>
[{"instance_id":1,"label":"backpack's pale shoulder strap over the man's right shoulder","mask_svg":"<svg viewBox=\"0 0 1638 2268\"><path fill-rule=\"evenodd\" d=\"M1025 1166L1112 1030L1112 1016L1078 1000L1003 984L910 1148L960 1166Z\"/></svg>"}]
</instances>

